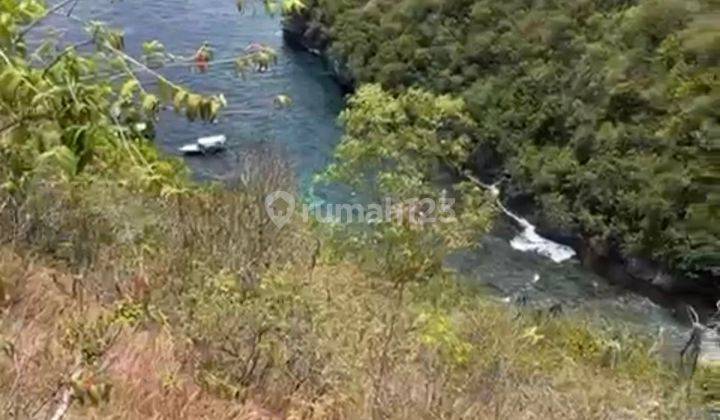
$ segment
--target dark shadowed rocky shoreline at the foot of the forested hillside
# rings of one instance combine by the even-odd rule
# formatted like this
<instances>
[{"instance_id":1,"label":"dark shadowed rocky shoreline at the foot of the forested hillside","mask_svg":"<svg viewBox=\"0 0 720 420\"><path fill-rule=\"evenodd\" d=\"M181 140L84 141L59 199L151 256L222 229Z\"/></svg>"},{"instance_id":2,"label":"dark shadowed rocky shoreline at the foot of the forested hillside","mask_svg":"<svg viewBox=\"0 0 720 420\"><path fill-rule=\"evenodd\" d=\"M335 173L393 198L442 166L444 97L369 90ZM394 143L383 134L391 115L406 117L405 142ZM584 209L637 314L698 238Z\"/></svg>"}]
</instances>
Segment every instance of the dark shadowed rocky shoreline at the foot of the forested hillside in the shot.
<instances>
[{"instance_id":1,"label":"dark shadowed rocky shoreline at the foot of the forested hillside","mask_svg":"<svg viewBox=\"0 0 720 420\"><path fill-rule=\"evenodd\" d=\"M287 16L283 20L283 37L289 46L320 56L338 84L346 92L354 90L355 78L352 70L342 57L331 52L330 35L326 28L309 24L302 15ZM493 156L492 152L479 151L469 163L474 173L488 183L502 178L499 156ZM527 218L542 236L572 247L583 266L611 283L666 305L668 302L676 302L668 306L678 306L677 302L691 304L703 317L715 309L715 302L720 299L717 279L687 279L656 261L640 256L623 256L617 246L600 244L580 232L553 226L546 217L538 213L531 194L513 185L512 181L507 187L502 200L504 205Z\"/></svg>"}]
</instances>

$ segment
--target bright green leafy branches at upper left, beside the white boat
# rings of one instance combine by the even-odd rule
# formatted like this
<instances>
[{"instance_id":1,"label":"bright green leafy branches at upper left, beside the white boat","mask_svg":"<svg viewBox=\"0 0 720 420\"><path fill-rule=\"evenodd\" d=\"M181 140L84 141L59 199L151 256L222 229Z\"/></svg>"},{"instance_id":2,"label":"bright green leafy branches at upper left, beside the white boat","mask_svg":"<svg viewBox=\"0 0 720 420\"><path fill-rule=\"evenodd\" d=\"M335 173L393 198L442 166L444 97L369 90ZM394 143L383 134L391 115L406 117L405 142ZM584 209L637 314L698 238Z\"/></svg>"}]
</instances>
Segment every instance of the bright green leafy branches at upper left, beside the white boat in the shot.
<instances>
[{"instance_id":1,"label":"bright green leafy branches at upper left, beside the white boat","mask_svg":"<svg viewBox=\"0 0 720 420\"><path fill-rule=\"evenodd\" d=\"M198 57L177 57L161 43L148 41L142 58L135 59L124 52L121 30L71 15L85 26L88 41L54 55L46 53L47 42L26 53L25 35L68 3L52 8L35 0L0 3L0 158L6 163L0 168L2 188L18 194L16 205L21 205L23 190L43 171L74 178L124 168L139 174L145 187L177 190L184 169L161 161L149 145L159 112L173 107L190 121L212 122L227 105L225 97L192 92L154 70L169 61ZM88 43L95 51L79 53L78 45ZM208 45L198 50L203 65L212 60L211 53ZM261 46L238 63L267 69L275 60L275 52ZM141 72L157 81L154 91L143 86L137 77Z\"/></svg>"}]
</instances>

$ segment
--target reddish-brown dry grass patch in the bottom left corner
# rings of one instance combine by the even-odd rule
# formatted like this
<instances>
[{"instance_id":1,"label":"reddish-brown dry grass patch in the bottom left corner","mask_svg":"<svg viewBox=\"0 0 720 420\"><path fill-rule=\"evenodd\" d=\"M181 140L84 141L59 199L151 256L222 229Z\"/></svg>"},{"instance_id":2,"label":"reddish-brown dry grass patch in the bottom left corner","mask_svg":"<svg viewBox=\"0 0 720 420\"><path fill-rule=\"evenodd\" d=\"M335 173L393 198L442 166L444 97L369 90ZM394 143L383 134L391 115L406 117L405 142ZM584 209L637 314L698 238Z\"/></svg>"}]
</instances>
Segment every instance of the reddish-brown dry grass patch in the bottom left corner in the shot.
<instances>
[{"instance_id":1,"label":"reddish-brown dry grass patch in the bottom left corner","mask_svg":"<svg viewBox=\"0 0 720 420\"><path fill-rule=\"evenodd\" d=\"M0 337L12 353L0 357L2 418L47 418L71 381L77 354L63 342L63 328L78 318L95 319L112 306L81 302L72 293L72 276L30 264L0 249L4 280L21 284L5 306ZM69 418L113 419L272 419L261 407L213 397L195 384L193 350L158 325L125 328L105 349L89 380L112 386L109 401L94 406L74 402Z\"/></svg>"}]
</instances>

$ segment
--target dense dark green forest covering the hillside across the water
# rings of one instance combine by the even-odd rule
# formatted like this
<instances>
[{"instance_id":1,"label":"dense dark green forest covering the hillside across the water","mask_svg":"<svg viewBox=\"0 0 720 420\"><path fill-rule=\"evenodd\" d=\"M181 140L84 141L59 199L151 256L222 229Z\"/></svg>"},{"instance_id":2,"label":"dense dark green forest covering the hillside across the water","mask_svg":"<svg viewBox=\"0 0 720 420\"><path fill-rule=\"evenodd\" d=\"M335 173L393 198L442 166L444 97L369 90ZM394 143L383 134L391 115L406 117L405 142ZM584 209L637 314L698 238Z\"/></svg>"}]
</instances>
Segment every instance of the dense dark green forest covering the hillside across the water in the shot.
<instances>
[{"instance_id":1,"label":"dense dark green forest covering the hillside across the water","mask_svg":"<svg viewBox=\"0 0 720 420\"><path fill-rule=\"evenodd\" d=\"M479 159L601 253L720 274L720 7L699 0L312 0L356 85L465 100Z\"/></svg>"}]
</instances>

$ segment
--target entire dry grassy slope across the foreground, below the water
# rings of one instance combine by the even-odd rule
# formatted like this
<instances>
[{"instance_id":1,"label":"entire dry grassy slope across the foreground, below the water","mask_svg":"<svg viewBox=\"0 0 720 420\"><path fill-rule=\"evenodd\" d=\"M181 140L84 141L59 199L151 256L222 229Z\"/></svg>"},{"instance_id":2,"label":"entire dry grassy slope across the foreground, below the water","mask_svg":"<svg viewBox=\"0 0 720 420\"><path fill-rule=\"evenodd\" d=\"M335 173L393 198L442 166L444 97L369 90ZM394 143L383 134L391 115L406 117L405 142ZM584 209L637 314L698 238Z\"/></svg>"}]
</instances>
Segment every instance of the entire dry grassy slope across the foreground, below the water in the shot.
<instances>
[{"instance_id":1,"label":"entire dry grassy slope across the foreground, below the water","mask_svg":"<svg viewBox=\"0 0 720 420\"><path fill-rule=\"evenodd\" d=\"M323 260L306 226L265 215L292 181L264 162L272 176L222 189L52 183L0 211L2 413L47 418L73 395L66 418L693 414L640 339Z\"/></svg>"}]
</instances>

